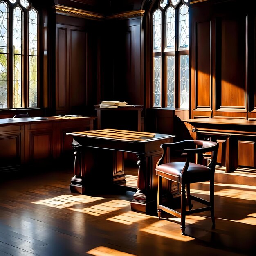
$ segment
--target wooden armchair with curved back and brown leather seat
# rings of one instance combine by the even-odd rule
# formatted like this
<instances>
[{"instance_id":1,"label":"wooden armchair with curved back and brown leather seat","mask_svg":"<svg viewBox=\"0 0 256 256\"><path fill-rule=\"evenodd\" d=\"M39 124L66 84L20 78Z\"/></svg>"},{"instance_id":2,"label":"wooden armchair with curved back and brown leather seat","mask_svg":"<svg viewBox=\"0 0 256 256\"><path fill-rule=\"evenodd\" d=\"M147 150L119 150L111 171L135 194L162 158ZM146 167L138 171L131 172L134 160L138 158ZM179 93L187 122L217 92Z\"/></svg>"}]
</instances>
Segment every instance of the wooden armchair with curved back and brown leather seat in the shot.
<instances>
[{"instance_id":1,"label":"wooden armchair with curved back and brown leather seat","mask_svg":"<svg viewBox=\"0 0 256 256\"><path fill-rule=\"evenodd\" d=\"M211 212L211 220L215 225L214 219L214 172L218 153L218 143L213 141L202 140L184 140L175 143L165 143L162 157L156 166L158 175L158 192L157 192L157 213L161 217L161 210L181 218L181 231L185 234L186 215L199 213L203 211ZM182 162L164 163L166 153L170 157L182 157ZM177 158L176 160L177 161ZM180 161L180 160L178 160ZM162 178L180 183L181 191L181 209L180 212L162 204ZM190 184L196 182L210 181L210 198L209 201L190 195ZM186 198L187 190L187 198ZM192 209L191 200L195 200L205 205L205 207ZM188 210L186 209L186 201Z\"/></svg>"}]
</instances>

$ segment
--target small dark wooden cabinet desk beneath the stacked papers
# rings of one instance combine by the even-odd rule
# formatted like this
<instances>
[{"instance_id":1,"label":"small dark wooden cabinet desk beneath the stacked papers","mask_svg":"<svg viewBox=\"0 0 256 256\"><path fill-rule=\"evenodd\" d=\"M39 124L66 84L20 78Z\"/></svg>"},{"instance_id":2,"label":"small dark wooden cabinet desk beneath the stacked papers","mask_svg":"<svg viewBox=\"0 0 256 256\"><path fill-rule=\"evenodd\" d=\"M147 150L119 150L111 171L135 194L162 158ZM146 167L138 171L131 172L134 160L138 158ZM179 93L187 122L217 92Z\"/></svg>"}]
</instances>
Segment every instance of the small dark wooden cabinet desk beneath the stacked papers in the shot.
<instances>
[{"instance_id":1,"label":"small dark wooden cabinet desk beneath the stacked papers","mask_svg":"<svg viewBox=\"0 0 256 256\"><path fill-rule=\"evenodd\" d=\"M100 108L101 105L94 105L97 110L97 129L114 128L141 131L142 105L119 106L118 108ZM101 115L104 112L106 116ZM134 115L136 114L137 115ZM117 122L118 120L118 122Z\"/></svg>"}]
</instances>

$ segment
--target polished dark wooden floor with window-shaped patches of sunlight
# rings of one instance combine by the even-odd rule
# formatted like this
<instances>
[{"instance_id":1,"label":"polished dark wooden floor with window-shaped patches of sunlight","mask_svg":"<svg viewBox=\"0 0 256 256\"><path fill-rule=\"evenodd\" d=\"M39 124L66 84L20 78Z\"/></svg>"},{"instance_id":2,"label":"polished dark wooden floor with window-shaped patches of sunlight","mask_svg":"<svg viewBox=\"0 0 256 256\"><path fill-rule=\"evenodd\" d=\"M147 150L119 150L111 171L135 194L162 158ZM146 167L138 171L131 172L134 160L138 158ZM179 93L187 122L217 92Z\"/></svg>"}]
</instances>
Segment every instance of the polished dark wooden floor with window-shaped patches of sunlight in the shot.
<instances>
[{"instance_id":1,"label":"polished dark wooden floor with window-shaped patches of sunlight","mask_svg":"<svg viewBox=\"0 0 256 256\"><path fill-rule=\"evenodd\" d=\"M182 236L171 215L132 212L132 192L70 193L71 177L72 168L1 180L0 256L255 255L255 186L216 184L216 229L198 213L186 217ZM207 188L191 192L206 197Z\"/></svg>"}]
</instances>

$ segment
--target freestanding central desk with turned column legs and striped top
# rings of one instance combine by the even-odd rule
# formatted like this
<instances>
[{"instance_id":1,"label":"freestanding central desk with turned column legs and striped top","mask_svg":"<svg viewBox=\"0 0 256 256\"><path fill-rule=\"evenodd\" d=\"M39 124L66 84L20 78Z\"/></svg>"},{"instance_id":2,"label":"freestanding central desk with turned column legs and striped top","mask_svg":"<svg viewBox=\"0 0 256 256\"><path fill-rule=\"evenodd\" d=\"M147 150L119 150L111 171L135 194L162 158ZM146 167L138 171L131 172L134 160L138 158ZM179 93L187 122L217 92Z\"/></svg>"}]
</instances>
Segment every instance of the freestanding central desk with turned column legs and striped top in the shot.
<instances>
[{"instance_id":1,"label":"freestanding central desk with turned column legs and striped top","mask_svg":"<svg viewBox=\"0 0 256 256\"><path fill-rule=\"evenodd\" d=\"M133 211L148 213L156 207L157 175L155 166L162 155L162 143L173 141L174 135L127 130L103 129L72 132L75 149L74 177L70 190L76 193L102 190L120 180L124 182L124 164L118 154L135 153L138 161L137 192L133 196ZM118 171L118 172L117 172ZM118 177L116 175L118 174ZM156 208L154 208L156 209Z\"/></svg>"}]
</instances>

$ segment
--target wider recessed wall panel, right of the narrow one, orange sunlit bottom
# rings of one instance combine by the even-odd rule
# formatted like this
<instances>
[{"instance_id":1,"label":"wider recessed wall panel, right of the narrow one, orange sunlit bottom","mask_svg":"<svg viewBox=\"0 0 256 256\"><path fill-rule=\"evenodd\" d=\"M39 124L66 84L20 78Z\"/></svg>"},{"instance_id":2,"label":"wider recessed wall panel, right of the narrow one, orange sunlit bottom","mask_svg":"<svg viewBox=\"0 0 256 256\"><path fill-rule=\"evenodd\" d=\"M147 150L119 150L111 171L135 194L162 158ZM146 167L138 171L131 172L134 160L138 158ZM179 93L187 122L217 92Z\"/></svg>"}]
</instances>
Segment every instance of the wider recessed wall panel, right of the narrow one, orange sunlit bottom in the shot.
<instances>
[{"instance_id":1,"label":"wider recessed wall panel, right of the narrow one, orange sunlit bottom","mask_svg":"<svg viewBox=\"0 0 256 256\"><path fill-rule=\"evenodd\" d=\"M243 108L245 109L245 18L223 18L217 24L220 25L221 43L220 51L221 66L220 81L216 90L221 90L220 108ZM218 37L217 37L218 38ZM220 99L216 99L217 102ZM218 106L218 104L217 104Z\"/></svg>"}]
</instances>

